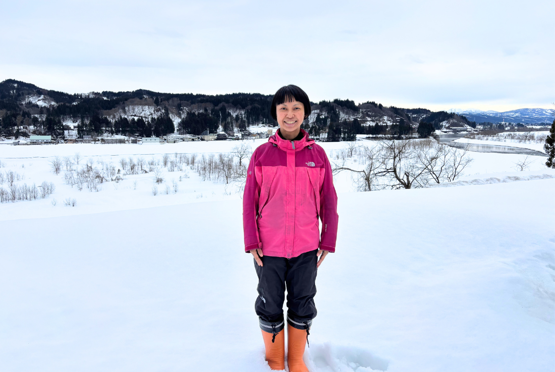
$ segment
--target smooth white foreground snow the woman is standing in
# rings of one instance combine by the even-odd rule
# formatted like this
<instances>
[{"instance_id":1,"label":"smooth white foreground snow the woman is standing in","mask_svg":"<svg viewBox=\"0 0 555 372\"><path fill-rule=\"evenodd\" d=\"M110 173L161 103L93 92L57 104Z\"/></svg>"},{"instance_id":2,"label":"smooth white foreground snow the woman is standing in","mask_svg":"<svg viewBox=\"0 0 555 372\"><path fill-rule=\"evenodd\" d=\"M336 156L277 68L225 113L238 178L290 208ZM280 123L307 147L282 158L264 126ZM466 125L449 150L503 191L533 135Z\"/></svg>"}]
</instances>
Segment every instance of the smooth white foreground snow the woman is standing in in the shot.
<instances>
[{"instance_id":1,"label":"smooth white foreground snow the woman is standing in","mask_svg":"<svg viewBox=\"0 0 555 372\"><path fill-rule=\"evenodd\" d=\"M555 179L339 193L316 371L551 371ZM241 200L0 223L0 369L266 371Z\"/></svg>"}]
</instances>

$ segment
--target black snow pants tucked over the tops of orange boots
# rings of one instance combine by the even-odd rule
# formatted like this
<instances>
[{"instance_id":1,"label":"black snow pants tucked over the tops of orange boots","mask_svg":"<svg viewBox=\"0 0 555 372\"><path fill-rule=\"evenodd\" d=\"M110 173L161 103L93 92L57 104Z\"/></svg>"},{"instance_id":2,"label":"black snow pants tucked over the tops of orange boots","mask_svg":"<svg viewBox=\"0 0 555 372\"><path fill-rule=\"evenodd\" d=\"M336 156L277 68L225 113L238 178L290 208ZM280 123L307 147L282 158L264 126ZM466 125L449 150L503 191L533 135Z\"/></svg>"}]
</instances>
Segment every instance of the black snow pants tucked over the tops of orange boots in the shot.
<instances>
[{"instance_id":1,"label":"black snow pants tucked over the tops of orange boots","mask_svg":"<svg viewBox=\"0 0 555 372\"><path fill-rule=\"evenodd\" d=\"M258 275L258 298L254 307L262 330L275 336L284 329L283 302L287 288L287 323L309 334L312 319L316 317L317 251L290 259L263 256L264 266L254 261Z\"/></svg>"}]
</instances>

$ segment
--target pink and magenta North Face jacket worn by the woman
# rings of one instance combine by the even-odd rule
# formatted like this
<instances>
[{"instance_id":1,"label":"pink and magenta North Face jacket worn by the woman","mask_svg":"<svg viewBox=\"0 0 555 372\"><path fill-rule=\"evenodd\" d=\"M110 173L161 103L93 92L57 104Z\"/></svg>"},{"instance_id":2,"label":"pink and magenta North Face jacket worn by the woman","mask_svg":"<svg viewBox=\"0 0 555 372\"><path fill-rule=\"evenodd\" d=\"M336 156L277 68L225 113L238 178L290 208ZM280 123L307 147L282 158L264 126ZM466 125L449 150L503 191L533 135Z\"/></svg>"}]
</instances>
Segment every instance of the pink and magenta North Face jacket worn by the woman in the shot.
<instances>
[{"instance_id":1,"label":"pink and magenta North Face jacket worn by the woman","mask_svg":"<svg viewBox=\"0 0 555 372\"><path fill-rule=\"evenodd\" d=\"M330 161L301 132L304 137L296 141L276 132L250 159L243 196L245 252L262 248L264 255L286 258L317 248L335 252L339 216Z\"/></svg>"}]
</instances>

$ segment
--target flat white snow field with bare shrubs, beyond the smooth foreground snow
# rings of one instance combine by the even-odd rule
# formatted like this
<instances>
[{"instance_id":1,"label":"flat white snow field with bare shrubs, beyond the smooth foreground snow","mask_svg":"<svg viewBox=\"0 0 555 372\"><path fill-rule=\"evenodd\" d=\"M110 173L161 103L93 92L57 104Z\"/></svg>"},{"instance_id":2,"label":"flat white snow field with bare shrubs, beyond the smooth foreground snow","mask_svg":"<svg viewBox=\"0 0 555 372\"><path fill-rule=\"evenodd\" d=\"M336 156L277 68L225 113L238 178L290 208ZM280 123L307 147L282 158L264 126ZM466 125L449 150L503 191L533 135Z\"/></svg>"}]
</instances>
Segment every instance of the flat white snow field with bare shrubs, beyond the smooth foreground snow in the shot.
<instances>
[{"instance_id":1,"label":"flat white snow field with bare shrubs, beyond the smooth foreground snow","mask_svg":"<svg viewBox=\"0 0 555 372\"><path fill-rule=\"evenodd\" d=\"M197 173L190 168L183 167L181 171L169 172L168 167L160 166L164 182L154 184L153 173L122 175L123 180L119 182L104 182L98 185L98 192L90 192L86 187L78 190L74 185L71 187L64 183L65 166L62 165L60 174L52 173L51 162L58 156L60 159L70 158L75 162L75 153L79 153L79 165L81 168L87 162L94 163L94 167L102 168L112 164L116 169L121 169L120 160L130 158L137 162L139 158L149 162L155 160L162 163L164 154L168 154L171 160L175 160L176 154L218 154L230 152L233 147L242 143L249 144L254 150L265 143L267 139L244 140L244 141L211 141L211 142L182 142L176 144L60 144L60 145L33 145L33 146L1 146L0 145L0 173L13 171L24 176L19 185L36 185L42 182L52 182L56 190L46 199L33 200L31 202L0 203L0 221L21 218L42 218L60 215L74 215L83 213L101 213L115 210L140 209L156 207L159 205L173 205L184 203L205 202L208 200L230 200L241 198L241 184L223 184L221 182L203 181ZM319 143L329 155L331 162L337 162L342 152L345 152L345 143ZM358 145L372 147L374 141L357 141ZM525 155L518 154L496 154L470 152L474 161L465 170L465 175L460 180L472 181L482 179L483 175L488 177L505 177L506 175L555 174L544 166L545 158L529 157L531 162L527 172L516 171L516 163L522 161ZM364 167L364 159L356 155L348 160L353 167ZM362 162L361 162L362 160ZM122 172L123 173L123 172ZM493 173L493 174L492 174ZM491 175L490 175L491 174ZM1 179L1 177L0 177ZM174 192L173 182L178 185L178 191ZM349 172L341 172L334 177L337 192L351 192L355 186ZM166 186L169 194L166 194ZM0 188L7 189L8 184L0 184ZM158 190L158 195L153 195L153 187ZM75 207L67 208L64 201L74 199ZM56 200L56 205L53 201Z\"/></svg>"}]
</instances>

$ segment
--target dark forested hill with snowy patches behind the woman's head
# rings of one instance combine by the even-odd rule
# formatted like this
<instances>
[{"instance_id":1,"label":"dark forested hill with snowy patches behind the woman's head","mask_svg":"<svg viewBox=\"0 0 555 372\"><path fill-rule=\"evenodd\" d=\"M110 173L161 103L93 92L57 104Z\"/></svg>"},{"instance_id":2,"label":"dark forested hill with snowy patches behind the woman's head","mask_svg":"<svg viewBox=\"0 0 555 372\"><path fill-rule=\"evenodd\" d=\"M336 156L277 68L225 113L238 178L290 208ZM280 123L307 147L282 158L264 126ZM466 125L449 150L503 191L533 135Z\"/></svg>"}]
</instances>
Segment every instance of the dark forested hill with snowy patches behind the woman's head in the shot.
<instances>
[{"instance_id":1,"label":"dark forested hill with snowy patches behind the woman's head","mask_svg":"<svg viewBox=\"0 0 555 372\"><path fill-rule=\"evenodd\" d=\"M83 134L160 136L178 131L198 135L204 130L238 132L249 125L274 125L272 96L258 93L193 94L91 92L68 94L8 79L0 83L0 135L51 134L64 128ZM312 114L303 127L313 137L352 139L356 134L408 134L420 122L436 129L474 123L454 113L427 109L385 107L376 102L355 104L349 99L311 103Z\"/></svg>"}]
</instances>

